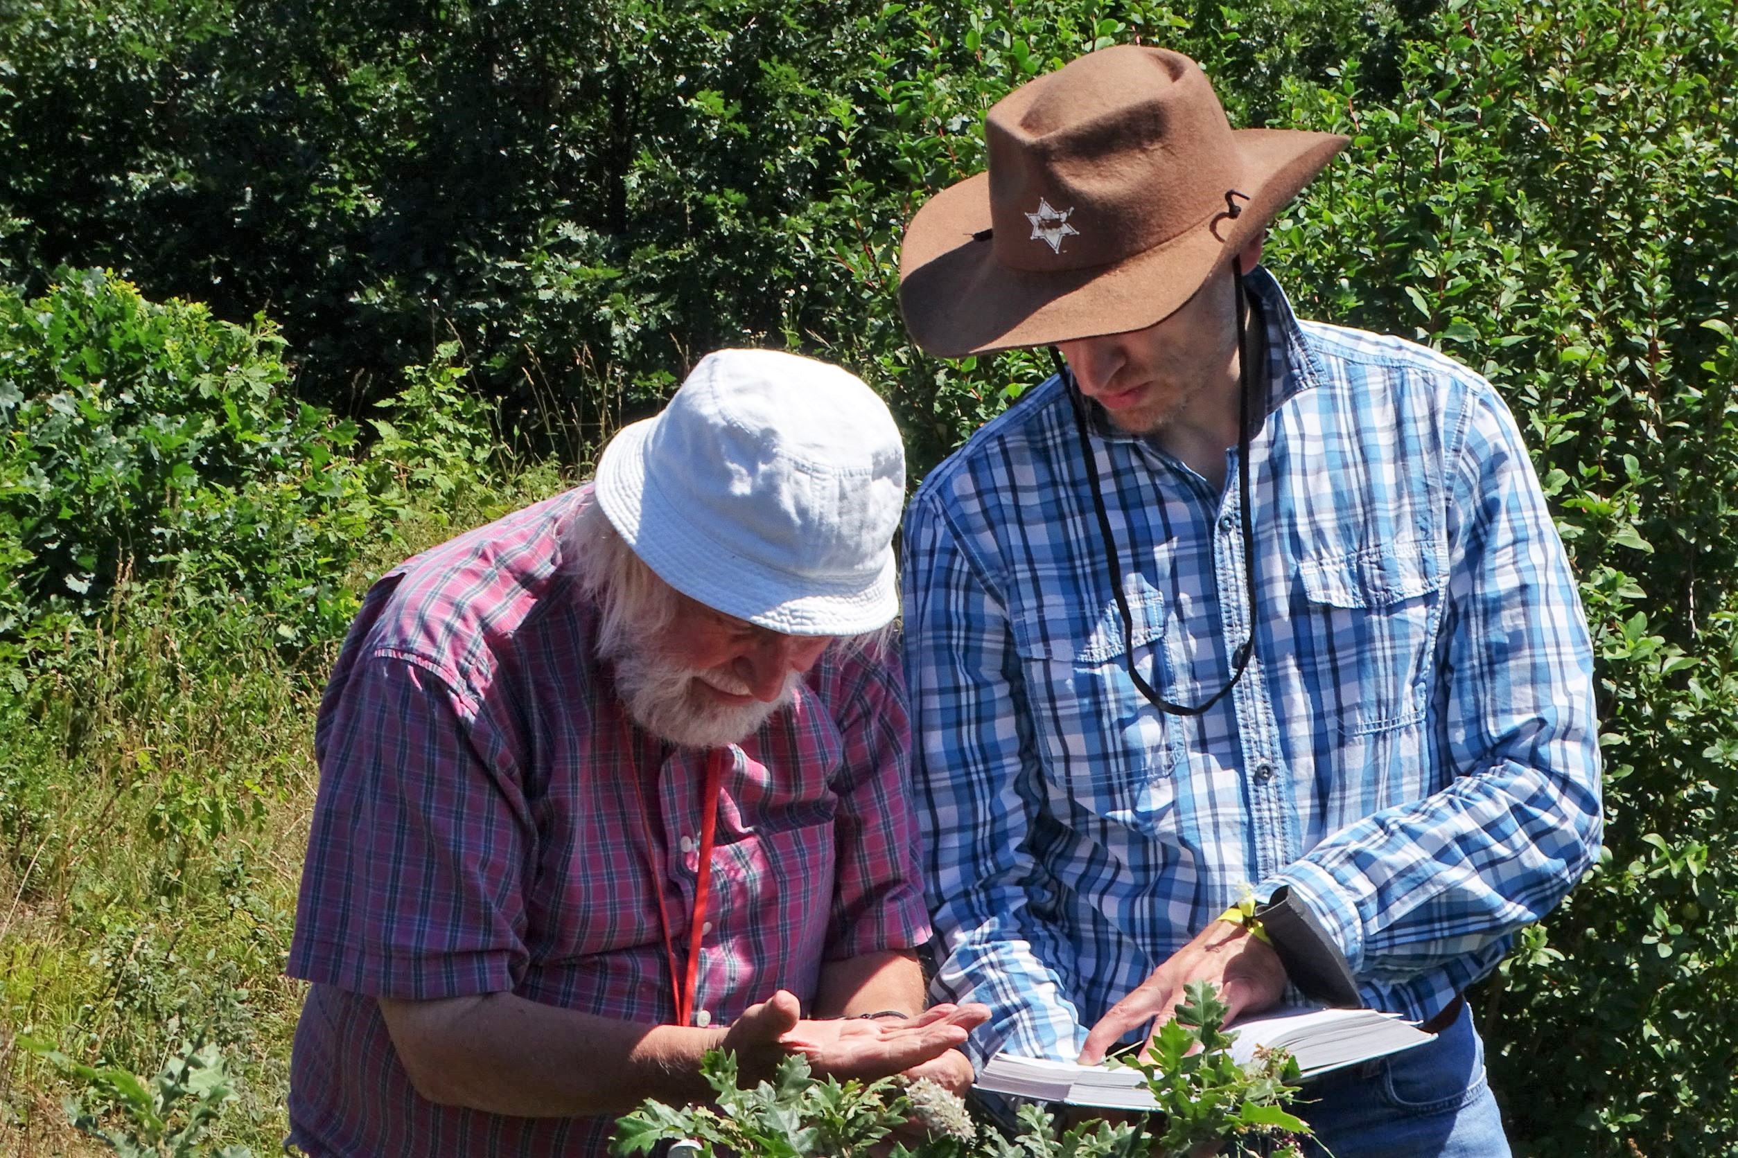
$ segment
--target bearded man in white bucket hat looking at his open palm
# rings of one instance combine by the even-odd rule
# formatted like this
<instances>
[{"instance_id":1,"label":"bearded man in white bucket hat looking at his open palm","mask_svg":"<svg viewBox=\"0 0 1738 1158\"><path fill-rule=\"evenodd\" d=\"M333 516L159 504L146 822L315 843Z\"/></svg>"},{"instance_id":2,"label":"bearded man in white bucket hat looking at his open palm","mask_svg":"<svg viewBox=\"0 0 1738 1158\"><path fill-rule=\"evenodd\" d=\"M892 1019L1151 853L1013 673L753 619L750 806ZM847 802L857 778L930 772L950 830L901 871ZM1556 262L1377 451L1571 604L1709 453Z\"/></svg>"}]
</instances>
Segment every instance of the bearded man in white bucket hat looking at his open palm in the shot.
<instances>
[{"instance_id":1,"label":"bearded man in white bucket hat looking at his open palm","mask_svg":"<svg viewBox=\"0 0 1738 1158\"><path fill-rule=\"evenodd\" d=\"M706 358L593 486L368 594L316 729L289 972L311 1155L603 1153L747 1076L963 1087L885 628L899 432L843 370Z\"/></svg>"}]
</instances>

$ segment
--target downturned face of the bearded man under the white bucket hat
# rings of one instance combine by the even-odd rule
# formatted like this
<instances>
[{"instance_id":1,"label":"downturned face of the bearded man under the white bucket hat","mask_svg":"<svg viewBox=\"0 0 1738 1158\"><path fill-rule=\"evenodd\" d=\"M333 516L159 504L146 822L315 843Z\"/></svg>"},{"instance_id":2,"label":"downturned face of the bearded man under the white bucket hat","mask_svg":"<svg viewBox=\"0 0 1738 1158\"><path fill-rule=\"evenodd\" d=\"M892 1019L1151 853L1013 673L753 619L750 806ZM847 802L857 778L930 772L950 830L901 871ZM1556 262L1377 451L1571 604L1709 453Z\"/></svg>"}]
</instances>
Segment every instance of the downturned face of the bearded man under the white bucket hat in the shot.
<instances>
[{"instance_id":1,"label":"downturned face of the bearded man under the white bucket hat","mask_svg":"<svg viewBox=\"0 0 1738 1158\"><path fill-rule=\"evenodd\" d=\"M716 748L753 734L791 701L831 635L780 635L687 595L653 639L615 656L627 714L673 743Z\"/></svg>"}]
</instances>

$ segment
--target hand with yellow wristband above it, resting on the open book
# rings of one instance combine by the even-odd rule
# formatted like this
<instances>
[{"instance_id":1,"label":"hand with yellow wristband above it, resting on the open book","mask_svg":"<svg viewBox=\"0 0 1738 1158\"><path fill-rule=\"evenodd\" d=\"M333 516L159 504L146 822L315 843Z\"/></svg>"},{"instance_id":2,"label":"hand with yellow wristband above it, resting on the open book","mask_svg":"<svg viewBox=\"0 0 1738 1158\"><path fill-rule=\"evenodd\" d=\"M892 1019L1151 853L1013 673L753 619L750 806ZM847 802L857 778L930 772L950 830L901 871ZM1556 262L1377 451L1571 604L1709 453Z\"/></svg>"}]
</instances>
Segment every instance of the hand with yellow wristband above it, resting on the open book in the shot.
<instances>
[{"instance_id":1,"label":"hand with yellow wristband above it, resting on the open book","mask_svg":"<svg viewBox=\"0 0 1738 1158\"><path fill-rule=\"evenodd\" d=\"M1097 1066L1105 1050L1135 1026L1151 1019L1158 1030L1175 1017L1189 981L1211 981L1218 988L1218 1000L1231 1005L1225 1017L1225 1024L1231 1024L1243 1014L1260 1012L1279 1000L1286 988L1286 967L1279 964L1274 946L1250 936L1243 925L1215 920L1098 1019L1086 1033L1079 1063ZM1151 1047L1149 1033L1142 1050Z\"/></svg>"}]
</instances>

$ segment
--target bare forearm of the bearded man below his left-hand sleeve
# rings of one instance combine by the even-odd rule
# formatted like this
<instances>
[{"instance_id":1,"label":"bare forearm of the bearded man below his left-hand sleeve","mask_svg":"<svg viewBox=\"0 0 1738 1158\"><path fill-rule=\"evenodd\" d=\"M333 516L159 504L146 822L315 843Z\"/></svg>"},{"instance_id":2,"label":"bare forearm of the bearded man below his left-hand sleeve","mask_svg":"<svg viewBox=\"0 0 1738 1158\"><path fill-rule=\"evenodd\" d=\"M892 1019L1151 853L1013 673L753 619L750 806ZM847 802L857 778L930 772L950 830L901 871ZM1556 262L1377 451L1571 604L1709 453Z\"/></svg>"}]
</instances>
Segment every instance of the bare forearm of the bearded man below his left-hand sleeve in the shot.
<instances>
[{"instance_id":1,"label":"bare forearm of the bearded man below his left-hand sleeve","mask_svg":"<svg viewBox=\"0 0 1738 1158\"><path fill-rule=\"evenodd\" d=\"M700 1056L723 1030L647 1026L487 993L381 1000L412 1085L429 1101L528 1118L626 1113L647 1097L704 1101Z\"/></svg>"}]
</instances>

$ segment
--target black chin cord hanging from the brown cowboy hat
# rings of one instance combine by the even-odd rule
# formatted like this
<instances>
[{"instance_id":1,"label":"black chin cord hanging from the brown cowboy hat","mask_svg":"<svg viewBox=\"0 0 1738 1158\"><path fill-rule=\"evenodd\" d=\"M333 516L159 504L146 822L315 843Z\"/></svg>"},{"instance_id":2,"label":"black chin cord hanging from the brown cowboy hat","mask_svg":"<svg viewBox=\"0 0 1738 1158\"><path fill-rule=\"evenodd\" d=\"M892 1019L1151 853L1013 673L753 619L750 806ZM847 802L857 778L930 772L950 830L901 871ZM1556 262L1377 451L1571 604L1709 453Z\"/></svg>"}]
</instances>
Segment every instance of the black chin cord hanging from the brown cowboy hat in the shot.
<instances>
[{"instance_id":1,"label":"black chin cord hanging from the brown cowboy hat","mask_svg":"<svg viewBox=\"0 0 1738 1158\"><path fill-rule=\"evenodd\" d=\"M1062 361L1062 352L1055 345L1050 347L1050 359L1055 363L1057 373L1062 377L1062 385L1067 389L1074 406L1074 429L1079 431L1081 457L1086 460L1086 477L1091 481L1091 507L1093 514L1098 516L1098 535L1104 538L1105 561L1111 564L1111 592L1116 595L1116 609L1123 616L1123 660L1128 665L1128 677L1135 681L1135 688L1147 698L1147 703L1166 715L1201 715L1211 708L1243 679L1243 670L1250 667L1250 653L1255 649L1255 526L1250 517L1250 349L1248 335L1244 333L1244 313L1248 313L1250 302L1243 290L1243 262L1232 262L1232 281L1237 286L1237 512L1243 521L1244 608L1250 622L1248 634L1232 656L1231 681L1208 696L1204 703L1194 707L1171 703L1154 691L1152 684L1135 670L1135 620L1128 613L1128 595L1123 594L1123 564L1116 559L1116 538L1111 535L1111 516L1104 505L1104 483L1098 479L1098 458L1091 450L1086 399L1074 382L1074 372ZM1158 670L1159 656L1154 651L1154 675L1158 675Z\"/></svg>"}]
</instances>

